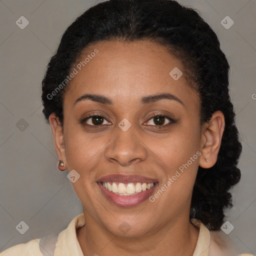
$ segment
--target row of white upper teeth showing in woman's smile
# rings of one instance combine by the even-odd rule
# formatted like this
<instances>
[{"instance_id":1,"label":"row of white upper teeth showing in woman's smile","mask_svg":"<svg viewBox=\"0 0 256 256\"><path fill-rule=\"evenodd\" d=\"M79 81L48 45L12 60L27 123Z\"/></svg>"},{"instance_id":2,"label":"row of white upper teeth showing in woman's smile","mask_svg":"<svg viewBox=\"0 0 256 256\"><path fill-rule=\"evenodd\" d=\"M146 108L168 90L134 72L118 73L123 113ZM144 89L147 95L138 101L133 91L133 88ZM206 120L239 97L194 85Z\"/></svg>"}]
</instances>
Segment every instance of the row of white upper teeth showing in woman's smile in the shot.
<instances>
[{"instance_id":1,"label":"row of white upper teeth showing in woman's smile","mask_svg":"<svg viewBox=\"0 0 256 256\"><path fill-rule=\"evenodd\" d=\"M141 183L141 182L136 182L134 185L133 182L124 184L119 182L118 185L116 182L102 182L102 185L109 191L112 191L115 194L119 195L133 195L137 194L141 191L145 191L146 189L150 189L153 187L154 183Z\"/></svg>"}]
</instances>

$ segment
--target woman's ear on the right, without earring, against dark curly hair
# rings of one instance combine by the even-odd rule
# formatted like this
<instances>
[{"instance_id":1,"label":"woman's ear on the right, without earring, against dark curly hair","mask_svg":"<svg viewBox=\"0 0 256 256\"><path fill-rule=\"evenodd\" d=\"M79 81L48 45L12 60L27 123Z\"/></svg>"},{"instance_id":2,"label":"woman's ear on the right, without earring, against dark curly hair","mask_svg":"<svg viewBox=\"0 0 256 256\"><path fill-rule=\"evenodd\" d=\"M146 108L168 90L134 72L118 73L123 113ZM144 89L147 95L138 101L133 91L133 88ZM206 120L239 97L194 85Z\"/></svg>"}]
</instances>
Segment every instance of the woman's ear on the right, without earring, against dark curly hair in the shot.
<instances>
[{"instance_id":1,"label":"woman's ear on the right, without earring, against dark curly hair","mask_svg":"<svg viewBox=\"0 0 256 256\"><path fill-rule=\"evenodd\" d=\"M211 119L204 123L201 133L199 166L212 167L216 161L225 127L225 118L221 111L212 114Z\"/></svg>"}]
</instances>

